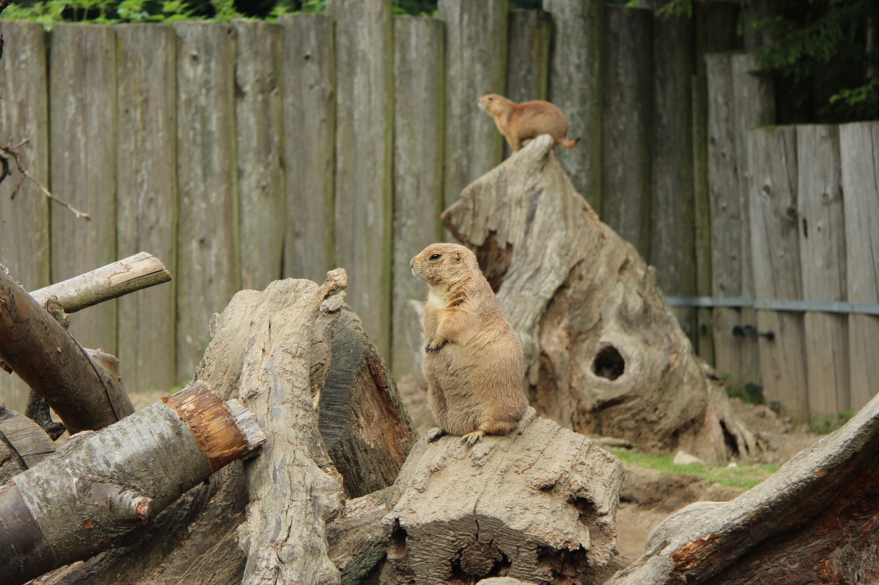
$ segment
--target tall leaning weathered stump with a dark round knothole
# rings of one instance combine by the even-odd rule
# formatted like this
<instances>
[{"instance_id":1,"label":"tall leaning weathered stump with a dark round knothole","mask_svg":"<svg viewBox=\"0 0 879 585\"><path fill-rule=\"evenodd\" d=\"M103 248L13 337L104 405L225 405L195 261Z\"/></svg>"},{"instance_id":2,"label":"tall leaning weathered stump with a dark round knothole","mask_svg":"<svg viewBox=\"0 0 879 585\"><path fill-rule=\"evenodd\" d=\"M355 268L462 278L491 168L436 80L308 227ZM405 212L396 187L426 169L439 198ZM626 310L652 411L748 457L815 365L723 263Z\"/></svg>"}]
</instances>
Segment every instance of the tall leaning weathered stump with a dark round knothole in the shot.
<instances>
[{"instance_id":1,"label":"tall leaning weathered stump with a dark round knothole","mask_svg":"<svg viewBox=\"0 0 879 585\"><path fill-rule=\"evenodd\" d=\"M548 136L469 185L443 220L519 333L541 415L646 451L722 461L754 449L654 272L579 196Z\"/></svg>"}]
</instances>

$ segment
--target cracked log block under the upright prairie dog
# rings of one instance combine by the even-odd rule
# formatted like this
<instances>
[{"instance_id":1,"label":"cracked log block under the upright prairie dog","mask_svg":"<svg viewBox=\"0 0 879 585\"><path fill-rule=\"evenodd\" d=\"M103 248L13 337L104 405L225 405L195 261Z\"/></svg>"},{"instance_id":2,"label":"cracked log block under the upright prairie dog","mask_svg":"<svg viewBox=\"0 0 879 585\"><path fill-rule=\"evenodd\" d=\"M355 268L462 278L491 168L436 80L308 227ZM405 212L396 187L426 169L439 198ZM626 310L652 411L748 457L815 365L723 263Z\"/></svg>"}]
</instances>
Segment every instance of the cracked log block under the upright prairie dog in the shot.
<instances>
[{"instance_id":1,"label":"cracked log block under the upright prairie dog","mask_svg":"<svg viewBox=\"0 0 879 585\"><path fill-rule=\"evenodd\" d=\"M380 582L599 583L625 565L620 460L533 408L522 426L472 448L451 436L413 447L384 519L393 535Z\"/></svg>"}]
</instances>

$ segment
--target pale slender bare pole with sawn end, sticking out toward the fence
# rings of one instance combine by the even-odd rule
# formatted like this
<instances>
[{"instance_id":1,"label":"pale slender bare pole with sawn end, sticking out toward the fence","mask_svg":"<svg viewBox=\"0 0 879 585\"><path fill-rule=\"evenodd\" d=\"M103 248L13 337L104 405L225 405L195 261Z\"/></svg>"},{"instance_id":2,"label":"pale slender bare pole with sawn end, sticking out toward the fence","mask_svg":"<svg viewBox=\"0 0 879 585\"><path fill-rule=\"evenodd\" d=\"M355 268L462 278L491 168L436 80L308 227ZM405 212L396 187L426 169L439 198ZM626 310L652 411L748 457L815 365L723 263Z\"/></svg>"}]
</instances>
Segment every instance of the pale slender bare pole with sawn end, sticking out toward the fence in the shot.
<instances>
[{"instance_id":1,"label":"pale slender bare pole with sawn end, sticking out toward the fence","mask_svg":"<svg viewBox=\"0 0 879 585\"><path fill-rule=\"evenodd\" d=\"M171 280L162 261L149 252L138 252L97 270L63 280L33 291L31 296L40 305L57 297L65 313L76 313L86 307L116 299L149 286Z\"/></svg>"}]
</instances>

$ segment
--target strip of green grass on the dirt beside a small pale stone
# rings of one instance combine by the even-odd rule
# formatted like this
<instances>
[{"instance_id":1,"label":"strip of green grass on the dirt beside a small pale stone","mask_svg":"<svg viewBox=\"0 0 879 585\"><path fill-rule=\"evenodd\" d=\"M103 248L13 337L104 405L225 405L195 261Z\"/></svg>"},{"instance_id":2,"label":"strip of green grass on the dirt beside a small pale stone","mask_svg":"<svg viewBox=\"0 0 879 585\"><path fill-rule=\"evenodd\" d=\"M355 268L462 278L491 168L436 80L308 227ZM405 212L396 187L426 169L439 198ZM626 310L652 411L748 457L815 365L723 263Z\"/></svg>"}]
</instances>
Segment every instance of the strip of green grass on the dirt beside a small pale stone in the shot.
<instances>
[{"instance_id":1,"label":"strip of green grass on the dirt beside a small pale stone","mask_svg":"<svg viewBox=\"0 0 879 585\"><path fill-rule=\"evenodd\" d=\"M691 475L702 480L714 481L728 488L748 490L778 471L777 465L738 464L735 467L716 466L708 463L678 465L671 455L648 455L625 449L609 449L622 461L623 466L652 469L662 475Z\"/></svg>"}]
</instances>

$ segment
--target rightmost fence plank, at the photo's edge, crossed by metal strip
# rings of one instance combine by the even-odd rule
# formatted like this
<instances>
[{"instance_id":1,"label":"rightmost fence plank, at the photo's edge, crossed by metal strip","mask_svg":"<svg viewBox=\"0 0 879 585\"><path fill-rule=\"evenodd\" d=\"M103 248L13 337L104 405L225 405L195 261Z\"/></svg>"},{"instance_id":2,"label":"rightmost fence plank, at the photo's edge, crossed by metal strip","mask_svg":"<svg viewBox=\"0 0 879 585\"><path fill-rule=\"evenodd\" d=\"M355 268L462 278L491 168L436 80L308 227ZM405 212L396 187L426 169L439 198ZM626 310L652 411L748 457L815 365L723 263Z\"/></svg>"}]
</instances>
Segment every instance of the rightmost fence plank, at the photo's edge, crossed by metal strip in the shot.
<instances>
[{"instance_id":1,"label":"rightmost fence plank, at the photo's edge, crossed by metal strip","mask_svg":"<svg viewBox=\"0 0 879 585\"><path fill-rule=\"evenodd\" d=\"M848 300L879 303L879 122L839 126L839 159L846 220ZM848 317L851 408L861 409L879 392L879 317Z\"/></svg>"}]
</instances>

